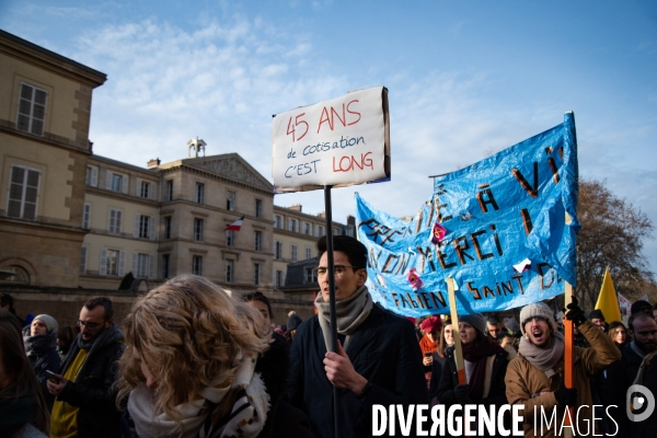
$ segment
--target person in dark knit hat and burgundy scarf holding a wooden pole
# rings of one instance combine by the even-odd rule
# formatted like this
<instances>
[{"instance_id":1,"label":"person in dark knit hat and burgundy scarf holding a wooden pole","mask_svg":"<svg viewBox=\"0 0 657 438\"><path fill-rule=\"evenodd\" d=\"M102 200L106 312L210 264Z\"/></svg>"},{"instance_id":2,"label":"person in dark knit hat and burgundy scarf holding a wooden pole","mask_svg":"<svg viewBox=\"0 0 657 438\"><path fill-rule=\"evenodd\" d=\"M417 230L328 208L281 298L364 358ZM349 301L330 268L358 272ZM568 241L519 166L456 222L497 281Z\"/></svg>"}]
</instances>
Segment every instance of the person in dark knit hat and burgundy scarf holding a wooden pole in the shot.
<instances>
[{"instance_id":1,"label":"person in dark knit hat and burgundy scarf holding a wooden pole","mask_svg":"<svg viewBox=\"0 0 657 438\"><path fill-rule=\"evenodd\" d=\"M454 404L505 405L504 377L508 353L486 336L486 319L481 313L459 315L459 332L466 383L459 383L454 347L447 348L447 358L433 403L443 404L448 408Z\"/></svg>"}]
</instances>

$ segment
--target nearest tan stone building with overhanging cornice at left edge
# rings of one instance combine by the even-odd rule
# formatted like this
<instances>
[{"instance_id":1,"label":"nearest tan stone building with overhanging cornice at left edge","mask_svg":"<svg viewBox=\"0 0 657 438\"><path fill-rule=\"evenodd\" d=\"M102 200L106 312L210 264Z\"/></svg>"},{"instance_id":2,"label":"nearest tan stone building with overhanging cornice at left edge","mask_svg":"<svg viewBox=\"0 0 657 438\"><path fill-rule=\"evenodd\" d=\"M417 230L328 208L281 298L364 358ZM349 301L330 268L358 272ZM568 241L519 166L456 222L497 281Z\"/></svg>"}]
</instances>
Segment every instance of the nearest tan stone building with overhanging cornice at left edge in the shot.
<instances>
[{"instance_id":1,"label":"nearest tan stone building with overhanging cornice at left edge","mask_svg":"<svg viewBox=\"0 0 657 438\"><path fill-rule=\"evenodd\" d=\"M0 31L0 269L78 285L93 90L104 73Z\"/></svg>"}]
</instances>

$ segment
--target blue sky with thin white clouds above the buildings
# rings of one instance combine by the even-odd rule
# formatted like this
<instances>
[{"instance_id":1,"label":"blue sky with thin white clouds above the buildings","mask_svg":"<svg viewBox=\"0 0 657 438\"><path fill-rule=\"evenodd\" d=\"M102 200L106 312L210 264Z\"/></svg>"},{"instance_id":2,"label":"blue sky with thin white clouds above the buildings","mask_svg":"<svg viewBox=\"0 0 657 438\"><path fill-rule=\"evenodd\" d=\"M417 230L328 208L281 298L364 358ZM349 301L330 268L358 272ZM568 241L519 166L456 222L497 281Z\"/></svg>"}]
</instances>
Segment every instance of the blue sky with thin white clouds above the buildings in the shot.
<instances>
[{"instance_id":1,"label":"blue sky with thin white clouds above the buildings","mask_svg":"<svg viewBox=\"0 0 657 438\"><path fill-rule=\"evenodd\" d=\"M574 111L580 177L657 224L654 1L0 0L0 27L107 74L94 152L136 165L239 152L270 180L272 115L385 85L393 181L353 193L394 216L451 172ZM323 211L322 192L275 204ZM657 273L657 241L645 249Z\"/></svg>"}]
</instances>

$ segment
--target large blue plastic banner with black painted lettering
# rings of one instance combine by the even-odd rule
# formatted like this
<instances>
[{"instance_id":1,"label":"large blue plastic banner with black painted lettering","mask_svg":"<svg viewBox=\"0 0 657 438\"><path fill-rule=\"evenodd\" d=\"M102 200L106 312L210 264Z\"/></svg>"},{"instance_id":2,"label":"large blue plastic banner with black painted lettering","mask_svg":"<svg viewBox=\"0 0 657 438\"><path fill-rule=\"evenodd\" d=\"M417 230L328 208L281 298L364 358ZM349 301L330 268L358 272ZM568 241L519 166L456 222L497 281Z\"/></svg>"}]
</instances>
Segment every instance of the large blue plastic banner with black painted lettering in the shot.
<instances>
[{"instance_id":1,"label":"large blue plastic banner with black painted lettering","mask_svg":"<svg viewBox=\"0 0 657 438\"><path fill-rule=\"evenodd\" d=\"M374 301L403 315L459 314L541 301L575 286L575 118L436 180L411 222L356 194L358 239L368 249Z\"/></svg>"}]
</instances>

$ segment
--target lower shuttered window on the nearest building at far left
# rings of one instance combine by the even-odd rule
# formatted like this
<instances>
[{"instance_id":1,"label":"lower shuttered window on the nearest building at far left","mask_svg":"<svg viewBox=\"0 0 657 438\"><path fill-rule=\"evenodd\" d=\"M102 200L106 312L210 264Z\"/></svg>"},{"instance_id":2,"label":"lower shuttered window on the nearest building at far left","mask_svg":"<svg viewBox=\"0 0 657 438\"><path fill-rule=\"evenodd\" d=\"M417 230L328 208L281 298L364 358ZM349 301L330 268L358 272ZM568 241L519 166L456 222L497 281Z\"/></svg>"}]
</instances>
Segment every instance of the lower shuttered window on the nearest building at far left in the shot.
<instances>
[{"instance_id":1,"label":"lower shuttered window on the nearest building at far left","mask_svg":"<svg viewBox=\"0 0 657 438\"><path fill-rule=\"evenodd\" d=\"M28 220L36 219L39 178L41 172L37 170L12 165L7 216Z\"/></svg>"}]
</instances>

